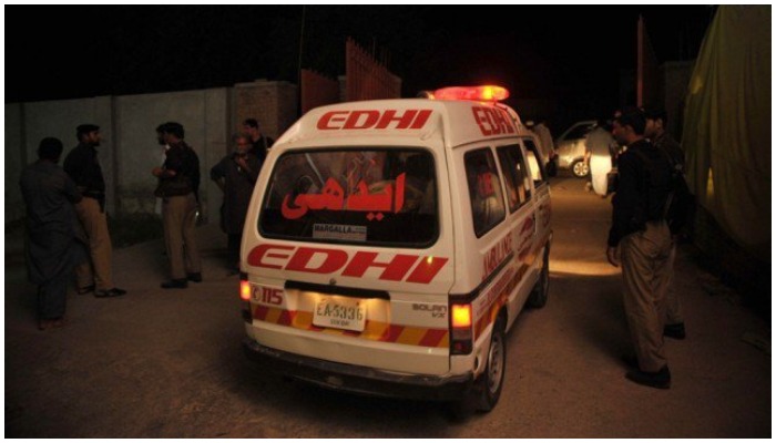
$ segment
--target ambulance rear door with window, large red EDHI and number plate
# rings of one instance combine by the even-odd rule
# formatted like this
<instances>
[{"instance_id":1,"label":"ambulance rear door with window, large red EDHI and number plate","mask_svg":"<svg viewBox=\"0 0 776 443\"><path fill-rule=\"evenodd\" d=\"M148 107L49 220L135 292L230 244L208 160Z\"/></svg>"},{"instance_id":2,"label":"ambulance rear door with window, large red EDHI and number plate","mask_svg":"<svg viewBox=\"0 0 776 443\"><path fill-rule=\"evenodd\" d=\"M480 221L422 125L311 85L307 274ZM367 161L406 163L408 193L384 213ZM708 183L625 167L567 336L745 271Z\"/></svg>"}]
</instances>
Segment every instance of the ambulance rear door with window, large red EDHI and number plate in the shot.
<instances>
[{"instance_id":1,"label":"ambulance rear door with window, large red EDHI and number plate","mask_svg":"<svg viewBox=\"0 0 776 443\"><path fill-rule=\"evenodd\" d=\"M244 245L258 288L248 334L323 360L445 374L455 274L441 138L340 142L276 153L259 181Z\"/></svg>"}]
</instances>

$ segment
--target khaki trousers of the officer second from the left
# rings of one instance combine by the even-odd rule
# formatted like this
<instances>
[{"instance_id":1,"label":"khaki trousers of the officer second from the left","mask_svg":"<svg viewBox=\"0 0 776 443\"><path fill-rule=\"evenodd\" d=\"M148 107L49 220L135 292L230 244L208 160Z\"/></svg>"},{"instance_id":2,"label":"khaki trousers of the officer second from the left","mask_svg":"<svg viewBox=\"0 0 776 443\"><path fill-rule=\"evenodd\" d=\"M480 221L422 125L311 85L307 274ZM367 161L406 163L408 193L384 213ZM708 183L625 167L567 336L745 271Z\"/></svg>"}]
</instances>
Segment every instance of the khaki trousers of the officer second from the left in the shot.
<instances>
[{"instance_id":1,"label":"khaki trousers of the officer second from the left","mask_svg":"<svg viewBox=\"0 0 776 443\"><path fill-rule=\"evenodd\" d=\"M113 274L111 268L111 256L113 246L111 235L108 231L108 218L100 209L100 202L94 198L84 197L75 204L75 214L86 233L89 240L89 257L75 267L75 279L79 288L94 285L96 290L108 290L113 288Z\"/></svg>"}]
</instances>

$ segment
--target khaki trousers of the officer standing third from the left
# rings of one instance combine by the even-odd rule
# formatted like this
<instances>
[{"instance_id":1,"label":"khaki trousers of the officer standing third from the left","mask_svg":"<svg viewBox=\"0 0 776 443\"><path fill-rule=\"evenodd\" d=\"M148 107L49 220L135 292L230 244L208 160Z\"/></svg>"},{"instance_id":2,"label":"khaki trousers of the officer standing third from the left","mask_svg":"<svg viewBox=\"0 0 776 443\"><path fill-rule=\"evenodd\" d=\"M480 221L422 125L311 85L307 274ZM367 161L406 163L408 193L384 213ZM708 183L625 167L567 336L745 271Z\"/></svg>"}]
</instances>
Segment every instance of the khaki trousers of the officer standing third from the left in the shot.
<instances>
[{"instance_id":1,"label":"khaki trousers of the officer standing third from the left","mask_svg":"<svg viewBox=\"0 0 776 443\"><path fill-rule=\"evenodd\" d=\"M185 279L187 274L202 271L195 236L196 209L194 193L165 197L162 204L164 241L173 279Z\"/></svg>"}]
</instances>

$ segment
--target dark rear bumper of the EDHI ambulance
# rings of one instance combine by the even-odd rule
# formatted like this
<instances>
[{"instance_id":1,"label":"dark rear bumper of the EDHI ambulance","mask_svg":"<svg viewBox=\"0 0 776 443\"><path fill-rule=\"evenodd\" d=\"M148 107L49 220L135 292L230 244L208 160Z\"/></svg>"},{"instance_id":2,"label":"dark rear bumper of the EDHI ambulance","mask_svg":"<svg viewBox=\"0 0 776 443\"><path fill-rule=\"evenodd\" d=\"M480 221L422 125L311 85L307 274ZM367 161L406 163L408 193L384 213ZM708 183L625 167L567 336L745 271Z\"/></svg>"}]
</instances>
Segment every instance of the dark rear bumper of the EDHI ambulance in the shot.
<instances>
[{"instance_id":1,"label":"dark rear bumper of the EDHI ambulance","mask_svg":"<svg viewBox=\"0 0 776 443\"><path fill-rule=\"evenodd\" d=\"M249 338L243 340L243 350L251 360L278 374L359 394L453 401L463 398L474 384L471 373L437 377L386 372L278 351Z\"/></svg>"}]
</instances>

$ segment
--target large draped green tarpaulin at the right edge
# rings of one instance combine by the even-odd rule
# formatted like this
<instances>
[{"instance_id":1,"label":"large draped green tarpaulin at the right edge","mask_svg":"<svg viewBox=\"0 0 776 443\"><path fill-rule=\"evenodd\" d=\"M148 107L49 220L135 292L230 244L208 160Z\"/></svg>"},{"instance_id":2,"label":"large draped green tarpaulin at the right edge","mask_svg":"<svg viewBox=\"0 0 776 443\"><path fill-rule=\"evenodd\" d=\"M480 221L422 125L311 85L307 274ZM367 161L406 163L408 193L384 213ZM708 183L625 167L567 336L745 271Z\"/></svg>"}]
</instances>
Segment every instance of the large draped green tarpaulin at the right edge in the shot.
<instances>
[{"instance_id":1,"label":"large draped green tarpaulin at the right edge","mask_svg":"<svg viewBox=\"0 0 776 443\"><path fill-rule=\"evenodd\" d=\"M742 247L770 262L770 6L721 6L684 115L687 179Z\"/></svg>"}]
</instances>

